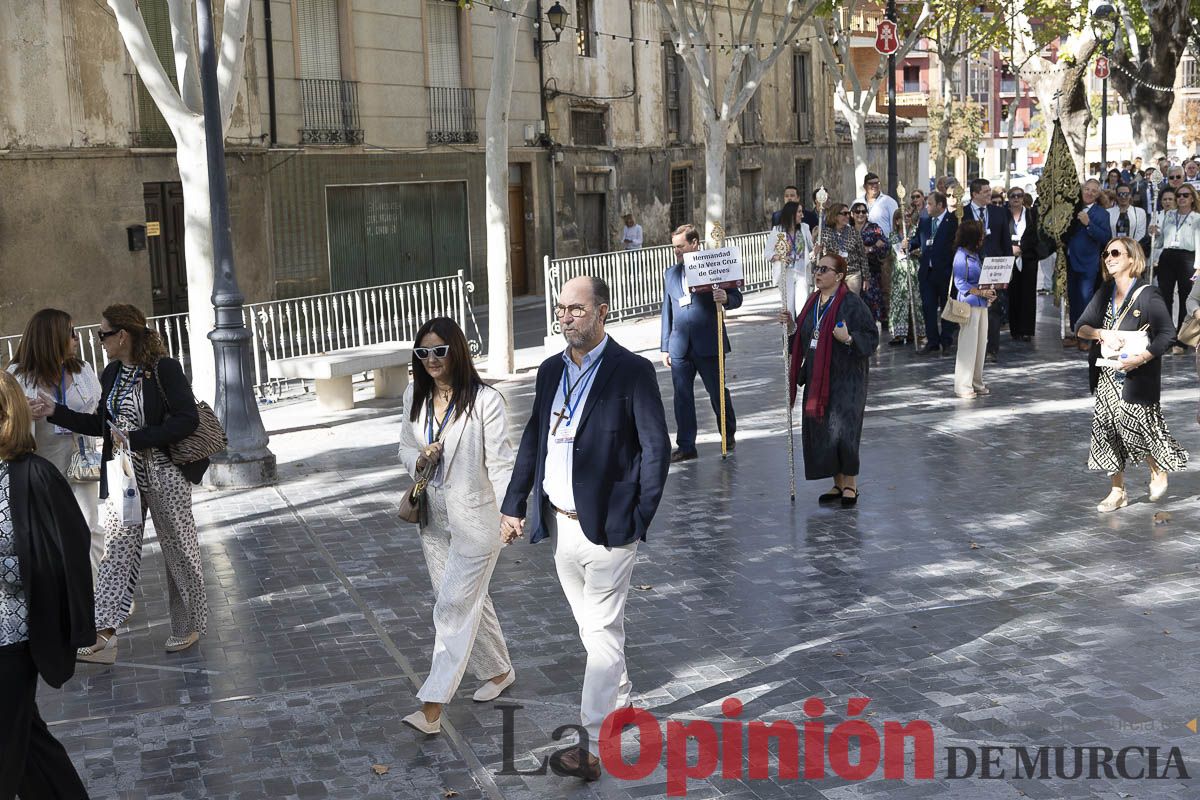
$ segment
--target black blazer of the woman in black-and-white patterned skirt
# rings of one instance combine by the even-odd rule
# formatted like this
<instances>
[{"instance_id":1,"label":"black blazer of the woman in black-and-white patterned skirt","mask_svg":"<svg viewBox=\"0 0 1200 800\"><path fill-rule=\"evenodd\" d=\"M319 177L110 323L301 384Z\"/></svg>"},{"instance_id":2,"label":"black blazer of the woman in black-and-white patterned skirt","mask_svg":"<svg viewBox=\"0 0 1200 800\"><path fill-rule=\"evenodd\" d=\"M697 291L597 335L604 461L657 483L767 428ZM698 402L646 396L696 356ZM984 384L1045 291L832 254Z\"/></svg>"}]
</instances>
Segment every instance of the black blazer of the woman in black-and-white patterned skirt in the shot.
<instances>
[{"instance_id":1,"label":"black blazer of the woman in black-and-white patterned skirt","mask_svg":"<svg viewBox=\"0 0 1200 800\"><path fill-rule=\"evenodd\" d=\"M1157 287L1146 285L1145 281L1139 281L1129 288L1129 295L1132 296L1140 285L1145 285L1146 288L1134 300L1129 313L1121 320L1117 330L1135 331L1142 325L1148 324L1150 347L1147 349L1154 357L1136 369L1126 373L1124 389L1121 391L1121 397L1127 403L1152 405L1158 402L1162 393L1163 354L1166 353L1166 349L1171 347L1171 342L1175 339L1175 321L1171 319L1171 312L1166 311L1166 302L1163 301L1163 295L1159 294ZM1087 303L1087 308L1079 317L1079 321L1075 325L1076 331L1084 325L1091 325L1097 329L1104 327L1104 314L1108 312L1115 288L1116 283L1114 281L1105 281L1097 289L1096 294L1092 295L1092 301ZM1096 366L1096 360L1099 356L1100 343L1092 342L1092 349L1087 355L1087 365L1088 383L1093 392L1100 378L1100 368Z\"/></svg>"}]
</instances>

